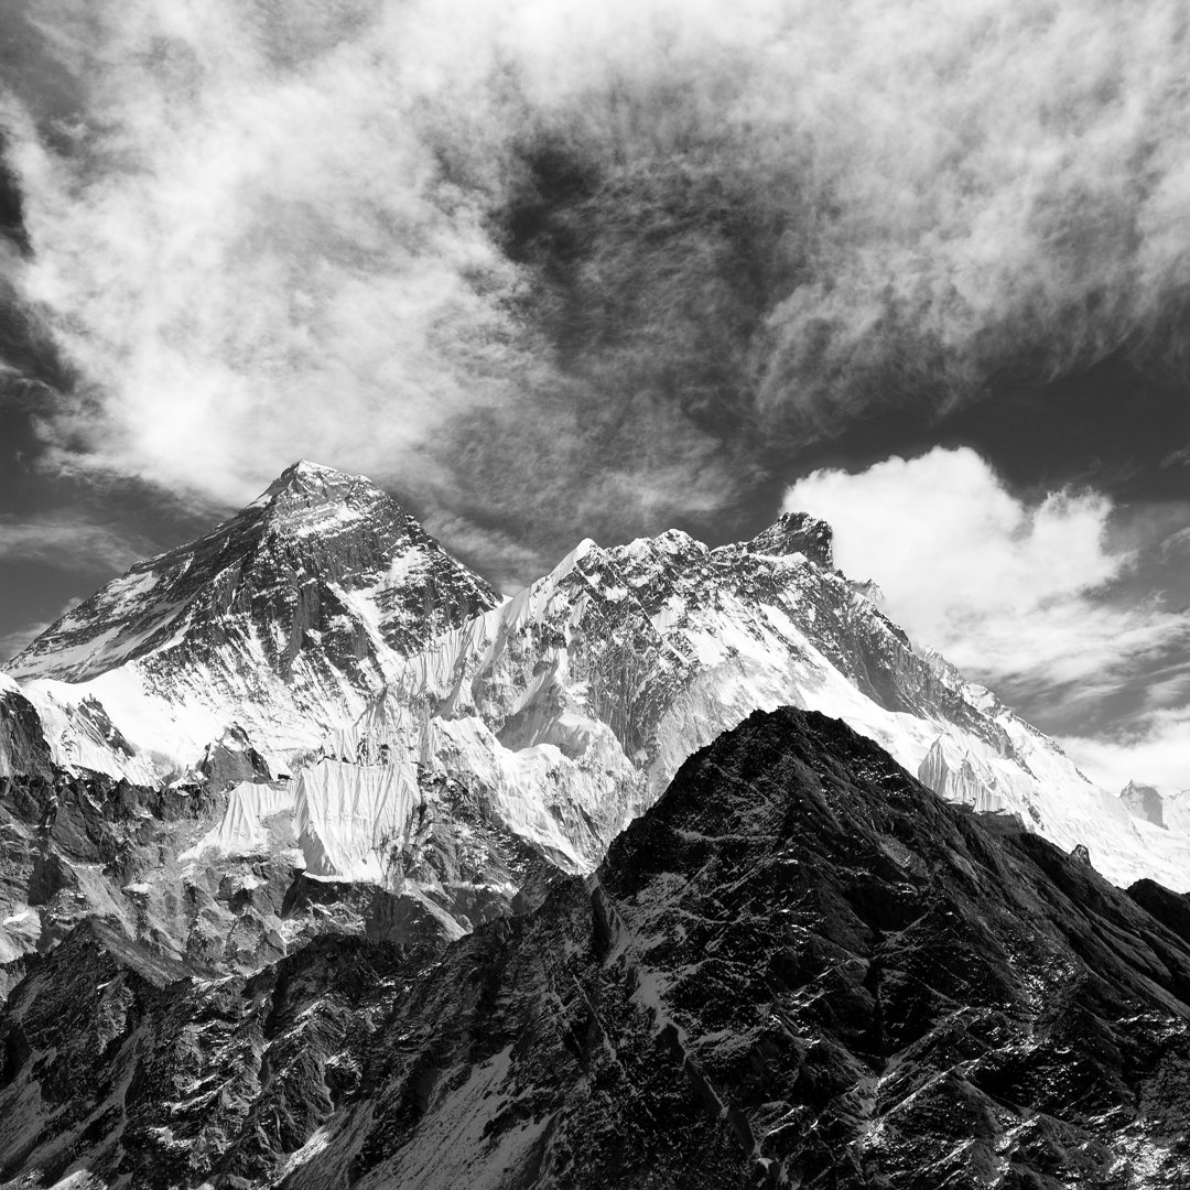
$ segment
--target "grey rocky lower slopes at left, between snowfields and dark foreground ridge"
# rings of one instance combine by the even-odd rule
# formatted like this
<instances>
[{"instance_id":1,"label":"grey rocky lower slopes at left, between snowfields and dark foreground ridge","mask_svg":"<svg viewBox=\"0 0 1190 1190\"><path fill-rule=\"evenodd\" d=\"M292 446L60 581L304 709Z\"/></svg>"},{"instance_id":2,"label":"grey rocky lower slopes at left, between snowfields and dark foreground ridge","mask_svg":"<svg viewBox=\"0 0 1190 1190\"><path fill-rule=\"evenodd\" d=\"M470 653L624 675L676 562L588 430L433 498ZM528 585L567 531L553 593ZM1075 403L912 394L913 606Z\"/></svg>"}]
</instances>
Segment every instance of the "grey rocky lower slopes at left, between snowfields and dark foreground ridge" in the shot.
<instances>
[{"instance_id":1,"label":"grey rocky lower slopes at left, between snowfields and dark foreground ridge","mask_svg":"<svg viewBox=\"0 0 1190 1190\"><path fill-rule=\"evenodd\" d=\"M546 859L457 783L427 781L424 793L380 885L308 879L292 831L288 847L181 863L226 807L205 785L61 770L0 777L0 920L15 927L0 948L0 1004L27 970L23 952L45 953L84 921L155 963L218 978L251 975L322 933L452 938L540 903L555 873ZM284 834L280 823L274 833Z\"/></svg>"}]
</instances>

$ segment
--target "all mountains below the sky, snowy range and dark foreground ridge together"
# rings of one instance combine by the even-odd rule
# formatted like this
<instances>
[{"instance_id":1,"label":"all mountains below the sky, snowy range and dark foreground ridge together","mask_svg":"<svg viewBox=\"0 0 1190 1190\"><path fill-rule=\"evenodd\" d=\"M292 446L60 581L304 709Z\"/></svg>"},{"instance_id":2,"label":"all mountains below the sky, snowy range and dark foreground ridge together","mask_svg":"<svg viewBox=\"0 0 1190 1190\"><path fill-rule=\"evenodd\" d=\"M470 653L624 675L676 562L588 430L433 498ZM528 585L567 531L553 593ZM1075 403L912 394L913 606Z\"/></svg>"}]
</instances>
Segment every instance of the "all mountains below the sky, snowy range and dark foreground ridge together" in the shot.
<instances>
[{"instance_id":1,"label":"all mountains below the sky, snowy range and dark foreground ridge together","mask_svg":"<svg viewBox=\"0 0 1190 1190\"><path fill-rule=\"evenodd\" d=\"M1186 827L813 518L501 597L298 463L0 675L0 1188L1183 1185Z\"/></svg>"}]
</instances>

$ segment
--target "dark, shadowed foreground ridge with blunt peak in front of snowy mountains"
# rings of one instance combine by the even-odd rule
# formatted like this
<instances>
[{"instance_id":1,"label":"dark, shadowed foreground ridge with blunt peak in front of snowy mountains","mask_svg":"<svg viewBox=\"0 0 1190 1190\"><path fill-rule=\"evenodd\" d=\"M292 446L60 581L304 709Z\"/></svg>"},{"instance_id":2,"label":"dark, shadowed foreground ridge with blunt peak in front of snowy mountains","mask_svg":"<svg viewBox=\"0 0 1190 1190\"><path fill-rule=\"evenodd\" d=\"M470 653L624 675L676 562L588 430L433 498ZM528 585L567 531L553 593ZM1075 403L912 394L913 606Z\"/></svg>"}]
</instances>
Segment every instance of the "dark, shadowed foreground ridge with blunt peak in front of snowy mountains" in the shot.
<instances>
[{"instance_id":1,"label":"dark, shadowed foreground ridge with blunt peak in front of snowy mountains","mask_svg":"<svg viewBox=\"0 0 1190 1190\"><path fill-rule=\"evenodd\" d=\"M1150 903L757 713L449 946L414 914L211 983L81 925L0 1026L0 1178L1184 1186L1190 944Z\"/></svg>"}]
</instances>

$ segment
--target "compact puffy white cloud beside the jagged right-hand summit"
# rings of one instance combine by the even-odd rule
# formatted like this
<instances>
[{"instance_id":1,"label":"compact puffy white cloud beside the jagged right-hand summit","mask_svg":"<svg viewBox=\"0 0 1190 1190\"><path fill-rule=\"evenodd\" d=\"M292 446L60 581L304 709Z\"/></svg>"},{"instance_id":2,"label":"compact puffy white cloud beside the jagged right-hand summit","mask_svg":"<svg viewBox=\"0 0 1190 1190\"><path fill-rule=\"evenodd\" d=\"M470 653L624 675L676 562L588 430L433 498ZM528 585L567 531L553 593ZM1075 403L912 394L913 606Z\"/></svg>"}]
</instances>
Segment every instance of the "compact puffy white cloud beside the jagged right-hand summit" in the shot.
<instances>
[{"instance_id":1,"label":"compact puffy white cloud beside the jagged right-hand summit","mask_svg":"<svg viewBox=\"0 0 1190 1190\"><path fill-rule=\"evenodd\" d=\"M828 520L839 565L873 577L895 621L1047 729L1075 734L1109 700L1144 702L1154 671L1190 650L1190 618L1152 589L1114 597L1142 543L1111 532L1101 495L1026 503L972 450L935 447L815 471L785 507Z\"/></svg>"}]
</instances>

